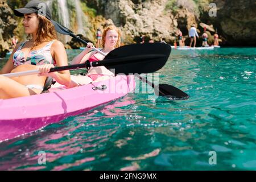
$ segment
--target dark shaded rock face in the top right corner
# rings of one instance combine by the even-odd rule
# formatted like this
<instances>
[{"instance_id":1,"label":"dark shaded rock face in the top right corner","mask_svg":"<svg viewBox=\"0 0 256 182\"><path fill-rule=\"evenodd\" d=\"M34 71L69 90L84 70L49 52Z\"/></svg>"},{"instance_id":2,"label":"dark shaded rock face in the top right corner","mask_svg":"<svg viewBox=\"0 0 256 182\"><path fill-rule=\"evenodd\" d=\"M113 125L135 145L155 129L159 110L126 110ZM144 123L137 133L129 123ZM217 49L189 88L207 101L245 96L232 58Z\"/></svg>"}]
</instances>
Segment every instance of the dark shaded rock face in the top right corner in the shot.
<instances>
[{"instance_id":1,"label":"dark shaded rock face in the top right corner","mask_svg":"<svg viewBox=\"0 0 256 182\"><path fill-rule=\"evenodd\" d=\"M230 46L256 45L256 1L217 0L215 24Z\"/></svg>"}]
</instances>

